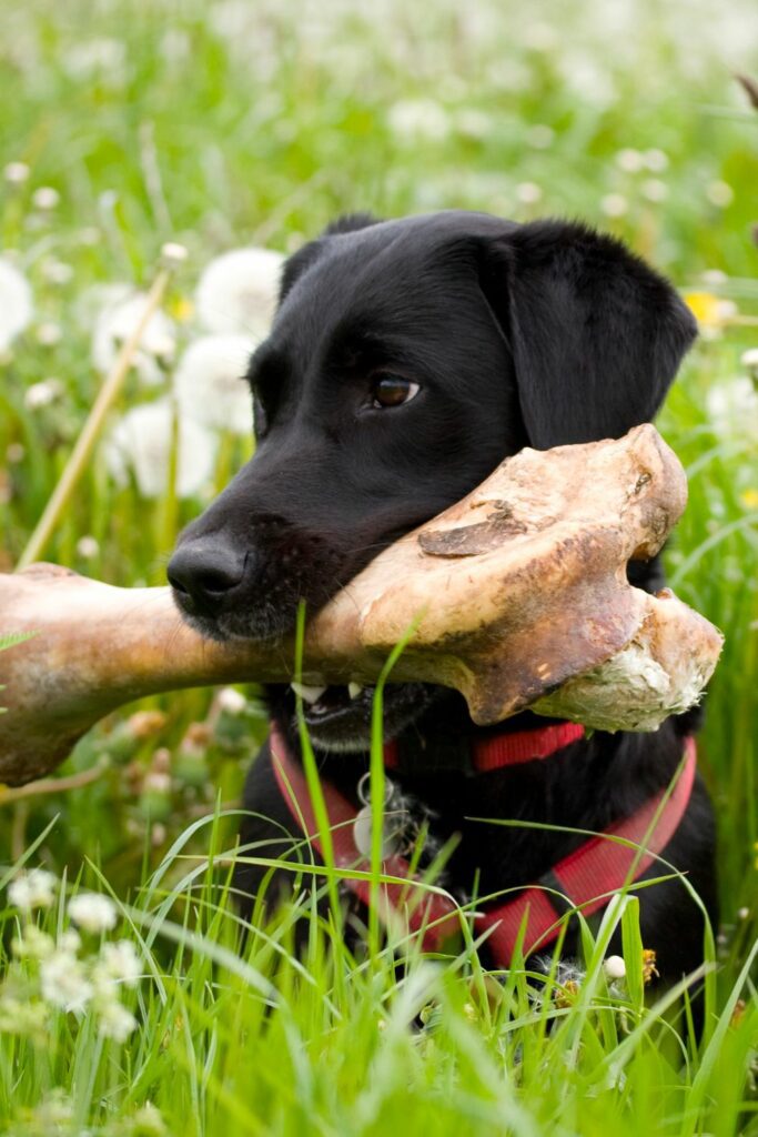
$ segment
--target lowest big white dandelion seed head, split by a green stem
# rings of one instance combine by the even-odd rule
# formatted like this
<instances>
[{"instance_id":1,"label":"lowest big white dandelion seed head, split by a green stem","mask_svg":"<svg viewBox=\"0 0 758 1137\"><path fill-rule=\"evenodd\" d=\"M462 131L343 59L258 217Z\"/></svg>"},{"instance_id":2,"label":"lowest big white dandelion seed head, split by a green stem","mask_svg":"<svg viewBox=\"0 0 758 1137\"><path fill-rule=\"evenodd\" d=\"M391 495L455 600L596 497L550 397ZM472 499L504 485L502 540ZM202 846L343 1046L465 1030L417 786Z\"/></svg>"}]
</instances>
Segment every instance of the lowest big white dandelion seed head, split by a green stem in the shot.
<instances>
[{"instance_id":1,"label":"lowest big white dandelion seed head, split by a green stem","mask_svg":"<svg viewBox=\"0 0 758 1137\"><path fill-rule=\"evenodd\" d=\"M145 402L116 423L106 441L105 456L117 484L128 483L133 471L142 497L166 492L174 445L174 408L169 399ZM216 460L216 439L199 423L180 416L176 433L176 492L194 497L210 485Z\"/></svg>"}]
</instances>

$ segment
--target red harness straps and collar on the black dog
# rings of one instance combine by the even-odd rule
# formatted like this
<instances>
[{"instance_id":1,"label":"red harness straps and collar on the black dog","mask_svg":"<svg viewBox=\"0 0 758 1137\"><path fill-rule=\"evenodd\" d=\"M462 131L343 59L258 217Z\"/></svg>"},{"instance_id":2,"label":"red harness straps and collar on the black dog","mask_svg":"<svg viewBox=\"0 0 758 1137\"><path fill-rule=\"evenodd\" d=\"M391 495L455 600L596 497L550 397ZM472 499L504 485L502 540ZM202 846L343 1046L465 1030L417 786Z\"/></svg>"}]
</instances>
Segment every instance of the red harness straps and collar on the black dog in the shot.
<instances>
[{"instance_id":1,"label":"red harness straps and collar on the black dog","mask_svg":"<svg viewBox=\"0 0 758 1137\"><path fill-rule=\"evenodd\" d=\"M547 758L576 741L584 728L574 723L544 727L540 730L500 735L477 741L473 748L473 766L477 772ZM288 750L275 725L270 735L272 764L278 787L298 827L322 854L318 825L303 770ZM385 763L398 761L393 744L385 747ZM694 739L685 741L685 762L668 797L663 789L649 798L631 816L616 822L602 833L591 837L547 872L538 883L520 888L502 904L495 904L474 918L477 933L489 932L488 945L501 968L507 968L516 944L523 935L524 955L543 948L557 938L561 916L573 908L584 915L602 908L614 893L636 880L650 868L658 854L676 832L684 815L697 764ZM322 791L332 830L334 862L339 869L368 872L369 864L358 852L353 823L358 811L338 789L322 780ZM642 848L644 843L644 847ZM385 877L378 891L380 915L385 923L402 919L410 931L422 935L426 951L439 948L442 941L459 931L460 910L455 901L428 888L414 888L419 877L408 861L392 855L382 862ZM368 877L348 878L345 887L367 906L372 899Z\"/></svg>"}]
</instances>

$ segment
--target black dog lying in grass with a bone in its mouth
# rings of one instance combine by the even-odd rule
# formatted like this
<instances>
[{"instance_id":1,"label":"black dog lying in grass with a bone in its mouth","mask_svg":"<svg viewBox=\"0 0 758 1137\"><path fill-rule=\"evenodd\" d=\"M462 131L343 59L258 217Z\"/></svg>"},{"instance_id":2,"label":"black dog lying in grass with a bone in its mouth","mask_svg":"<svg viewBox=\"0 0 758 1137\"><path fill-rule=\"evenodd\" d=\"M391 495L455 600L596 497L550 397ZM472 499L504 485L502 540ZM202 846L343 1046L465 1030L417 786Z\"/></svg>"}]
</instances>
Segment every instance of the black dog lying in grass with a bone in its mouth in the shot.
<instances>
[{"instance_id":1,"label":"black dog lying in grass with a bone in its mouth","mask_svg":"<svg viewBox=\"0 0 758 1137\"><path fill-rule=\"evenodd\" d=\"M582 225L460 211L342 218L286 263L274 327L248 375L257 453L182 534L168 570L181 611L214 638L291 632L301 599L318 608L507 455L620 437L652 418L693 337L669 284ZM630 573L649 590L663 583L656 562ZM297 753L292 692L269 694ZM324 775L353 802L370 704L370 691L351 699L330 688L306 712ZM543 725L523 714L498 733ZM449 761L449 740L463 755L493 731L472 723L459 696L391 686L384 717L385 738L413 760L395 780L432 819L438 843L460 835L444 883L464 897L475 881L485 896L544 879L584 840L467 819L606 829L669 782L693 727L685 715L652 735L597 732L547 760L468 777L463 756ZM276 855L283 829L301 837L268 746L245 802L256 813L245 841L270 838ZM714 825L699 780L663 855L714 916ZM656 865L645 873L660 874ZM255 894L260 874L243 868L238 880ZM640 901L661 976L693 969L702 919L682 883L643 889ZM567 951L573 943L569 935Z\"/></svg>"}]
</instances>

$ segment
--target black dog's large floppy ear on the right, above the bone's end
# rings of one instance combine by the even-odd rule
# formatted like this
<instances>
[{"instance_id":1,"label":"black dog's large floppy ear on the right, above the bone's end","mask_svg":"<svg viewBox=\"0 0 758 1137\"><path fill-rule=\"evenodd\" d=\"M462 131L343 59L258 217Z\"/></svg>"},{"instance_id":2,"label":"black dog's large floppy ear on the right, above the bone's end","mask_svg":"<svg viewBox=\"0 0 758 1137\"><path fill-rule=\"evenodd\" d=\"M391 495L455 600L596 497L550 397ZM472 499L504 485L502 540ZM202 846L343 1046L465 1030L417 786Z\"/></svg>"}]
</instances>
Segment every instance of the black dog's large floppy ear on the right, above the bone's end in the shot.
<instances>
[{"instance_id":1,"label":"black dog's large floppy ear on the right, above the bone's end","mask_svg":"<svg viewBox=\"0 0 758 1137\"><path fill-rule=\"evenodd\" d=\"M659 409L695 322L619 241L544 221L489 240L482 288L514 359L530 443L619 438Z\"/></svg>"}]
</instances>

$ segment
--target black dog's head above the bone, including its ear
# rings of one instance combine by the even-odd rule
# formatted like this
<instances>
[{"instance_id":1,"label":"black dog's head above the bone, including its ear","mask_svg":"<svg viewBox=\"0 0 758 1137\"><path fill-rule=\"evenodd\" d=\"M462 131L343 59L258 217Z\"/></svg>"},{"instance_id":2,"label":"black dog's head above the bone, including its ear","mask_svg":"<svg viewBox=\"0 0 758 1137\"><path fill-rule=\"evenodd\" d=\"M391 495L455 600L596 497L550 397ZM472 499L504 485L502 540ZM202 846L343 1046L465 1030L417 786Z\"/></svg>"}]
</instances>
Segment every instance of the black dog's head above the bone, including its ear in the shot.
<instances>
[{"instance_id":1,"label":"black dog's head above the bone, including its ear","mask_svg":"<svg viewBox=\"0 0 758 1137\"><path fill-rule=\"evenodd\" d=\"M290 631L507 455L652 418L693 335L585 226L343 218L286 263L248 373L256 455L180 538L180 608L215 638Z\"/></svg>"}]
</instances>

